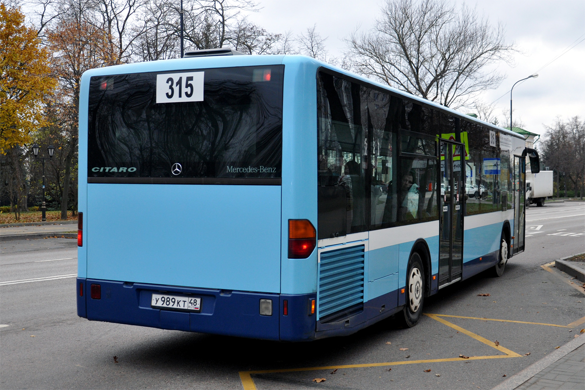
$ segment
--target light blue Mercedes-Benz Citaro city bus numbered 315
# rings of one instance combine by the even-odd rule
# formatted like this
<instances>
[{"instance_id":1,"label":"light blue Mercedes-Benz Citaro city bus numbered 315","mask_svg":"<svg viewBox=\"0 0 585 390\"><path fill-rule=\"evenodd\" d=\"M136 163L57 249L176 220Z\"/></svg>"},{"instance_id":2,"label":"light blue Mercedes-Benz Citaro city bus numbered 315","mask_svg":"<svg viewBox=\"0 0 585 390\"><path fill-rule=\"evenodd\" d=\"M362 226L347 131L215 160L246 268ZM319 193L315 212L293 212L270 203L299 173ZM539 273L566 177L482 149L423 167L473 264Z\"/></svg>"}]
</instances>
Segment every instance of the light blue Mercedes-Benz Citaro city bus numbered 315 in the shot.
<instances>
[{"instance_id":1,"label":"light blue Mercedes-Benz Citaro city bus numbered 315","mask_svg":"<svg viewBox=\"0 0 585 390\"><path fill-rule=\"evenodd\" d=\"M518 134L304 56L196 51L81 79L77 312L302 341L524 250Z\"/></svg>"}]
</instances>

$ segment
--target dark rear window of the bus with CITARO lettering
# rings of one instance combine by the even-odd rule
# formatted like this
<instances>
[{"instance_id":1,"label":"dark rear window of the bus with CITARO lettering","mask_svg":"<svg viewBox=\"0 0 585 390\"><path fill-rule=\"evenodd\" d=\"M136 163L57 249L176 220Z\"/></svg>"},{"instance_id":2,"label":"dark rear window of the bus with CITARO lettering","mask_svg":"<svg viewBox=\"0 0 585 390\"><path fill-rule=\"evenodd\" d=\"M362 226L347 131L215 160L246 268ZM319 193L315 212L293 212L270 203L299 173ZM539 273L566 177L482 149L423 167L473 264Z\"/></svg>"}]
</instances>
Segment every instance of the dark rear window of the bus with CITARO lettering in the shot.
<instances>
[{"instance_id":1,"label":"dark rear window of the bus with CITARO lettering","mask_svg":"<svg viewBox=\"0 0 585 390\"><path fill-rule=\"evenodd\" d=\"M88 182L280 184L283 75L268 65L92 77Z\"/></svg>"}]
</instances>

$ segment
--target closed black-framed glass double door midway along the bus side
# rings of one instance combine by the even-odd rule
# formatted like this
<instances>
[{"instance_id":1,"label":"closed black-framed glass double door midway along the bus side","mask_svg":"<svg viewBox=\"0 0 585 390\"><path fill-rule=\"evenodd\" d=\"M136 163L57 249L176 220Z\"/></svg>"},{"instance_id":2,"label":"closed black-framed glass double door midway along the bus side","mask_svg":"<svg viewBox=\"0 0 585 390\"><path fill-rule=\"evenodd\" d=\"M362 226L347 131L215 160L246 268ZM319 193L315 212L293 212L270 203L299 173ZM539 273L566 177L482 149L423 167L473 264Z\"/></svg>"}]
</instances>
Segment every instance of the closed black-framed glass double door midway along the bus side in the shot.
<instances>
[{"instance_id":1,"label":"closed black-framed glass double door midway along the bus side","mask_svg":"<svg viewBox=\"0 0 585 390\"><path fill-rule=\"evenodd\" d=\"M463 268L463 146L440 140L439 288L461 278Z\"/></svg>"}]
</instances>

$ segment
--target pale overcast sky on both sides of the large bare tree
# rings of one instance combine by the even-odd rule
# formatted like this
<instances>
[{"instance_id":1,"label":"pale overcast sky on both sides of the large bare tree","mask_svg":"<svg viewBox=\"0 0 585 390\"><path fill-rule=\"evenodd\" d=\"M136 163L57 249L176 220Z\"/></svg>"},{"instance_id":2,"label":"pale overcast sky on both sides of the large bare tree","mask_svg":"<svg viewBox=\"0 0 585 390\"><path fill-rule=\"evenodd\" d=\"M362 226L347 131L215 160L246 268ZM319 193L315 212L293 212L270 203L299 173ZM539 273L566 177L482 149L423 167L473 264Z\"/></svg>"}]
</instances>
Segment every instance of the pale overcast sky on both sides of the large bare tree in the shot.
<instances>
[{"instance_id":1,"label":"pale overcast sky on both sides of the large bare tree","mask_svg":"<svg viewBox=\"0 0 585 390\"><path fill-rule=\"evenodd\" d=\"M370 29L383 0L261 0L260 12L250 19L269 32L292 30L300 33L316 23L322 37L328 37L326 49L341 56L343 39L353 30ZM557 116L568 120L579 115L585 119L585 39L584 0L462 0L477 7L480 15L494 24L504 23L508 42L521 53L514 64L501 63L497 71L507 78L500 88L486 91L481 98L495 102L494 114L503 124L503 110L510 109L510 88L514 82L538 72L514 87L514 122L521 120L524 129L544 133L543 125L552 126ZM503 96L504 95L504 96Z\"/></svg>"}]
</instances>

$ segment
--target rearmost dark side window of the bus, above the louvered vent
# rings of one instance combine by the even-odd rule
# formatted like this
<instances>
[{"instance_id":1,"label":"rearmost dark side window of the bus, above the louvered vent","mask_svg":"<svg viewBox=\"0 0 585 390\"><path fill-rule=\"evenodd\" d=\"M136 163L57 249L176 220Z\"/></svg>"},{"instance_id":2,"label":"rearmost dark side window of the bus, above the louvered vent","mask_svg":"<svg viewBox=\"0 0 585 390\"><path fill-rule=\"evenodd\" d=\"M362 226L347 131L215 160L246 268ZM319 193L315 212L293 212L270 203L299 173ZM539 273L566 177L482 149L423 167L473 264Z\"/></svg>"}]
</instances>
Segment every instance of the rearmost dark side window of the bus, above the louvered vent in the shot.
<instances>
[{"instance_id":1,"label":"rearmost dark side window of the bus, above the louvered vent","mask_svg":"<svg viewBox=\"0 0 585 390\"><path fill-rule=\"evenodd\" d=\"M363 232L367 229L366 129L362 126L360 86L321 73L317 95L318 239Z\"/></svg>"}]
</instances>

